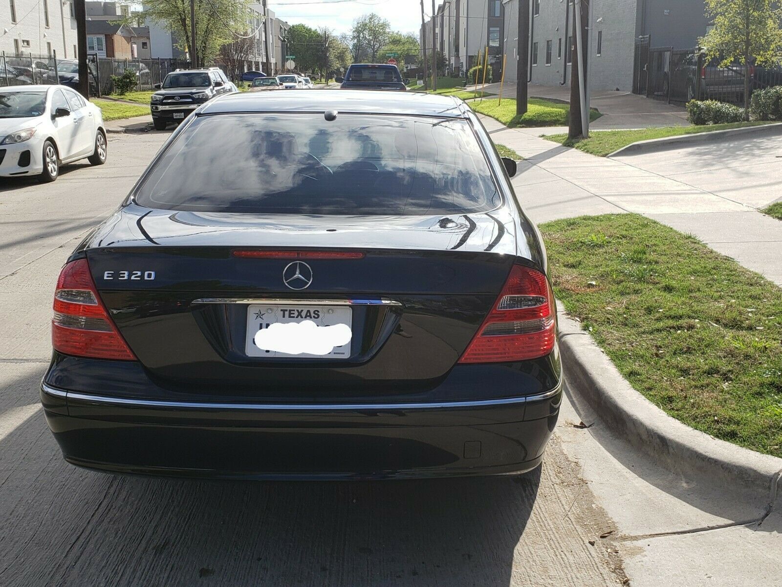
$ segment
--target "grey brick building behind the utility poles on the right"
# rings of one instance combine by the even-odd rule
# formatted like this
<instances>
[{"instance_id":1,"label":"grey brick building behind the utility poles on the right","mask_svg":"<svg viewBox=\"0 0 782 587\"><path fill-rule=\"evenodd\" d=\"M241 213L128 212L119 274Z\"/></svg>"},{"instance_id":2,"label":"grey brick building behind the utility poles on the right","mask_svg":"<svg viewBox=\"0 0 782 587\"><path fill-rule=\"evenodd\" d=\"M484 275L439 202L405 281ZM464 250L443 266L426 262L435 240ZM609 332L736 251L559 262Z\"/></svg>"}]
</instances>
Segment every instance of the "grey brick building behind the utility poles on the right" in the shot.
<instances>
[{"instance_id":1,"label":"grey brick building behind the utility poles on the right","mask_svg":"<svg viewBox=\"0 0 782 587\"><path fill-rule=\"evenodd\" d=\"M703 0L591 0L587 60L590 88L633 88L633 56L638 38L648 35L653 47L689 49L706 34ZM516 81L519 0L505 0L508 41L505 80ZM572 0L530 0L529 82L570 83L573 38Z\"/></svg>"}]
</instances>

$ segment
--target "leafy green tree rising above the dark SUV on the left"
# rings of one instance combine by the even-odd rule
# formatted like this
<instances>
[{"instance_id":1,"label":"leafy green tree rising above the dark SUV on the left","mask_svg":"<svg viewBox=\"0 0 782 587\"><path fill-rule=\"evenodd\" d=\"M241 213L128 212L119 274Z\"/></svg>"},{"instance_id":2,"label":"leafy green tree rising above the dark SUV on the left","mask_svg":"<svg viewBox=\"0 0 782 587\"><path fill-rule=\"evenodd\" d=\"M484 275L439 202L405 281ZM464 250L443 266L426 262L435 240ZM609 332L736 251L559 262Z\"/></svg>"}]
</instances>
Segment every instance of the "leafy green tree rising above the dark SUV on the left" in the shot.
<instances>
[{"instance_id":1,"label":"leafy green tree rising above the dark SUV on the left","mask_svg":"<svg viewBox=\"0 0 782 587\"><path fill-rule=\"evenodd\" d=\"M247 34L249 0L195 0L195 56L206 66L214 62L222 45ZM192 56L190 46L189 0L145 0L141 13L133 18L149 18L180 39L179 47Z\"/></svg>"}]
</instances>

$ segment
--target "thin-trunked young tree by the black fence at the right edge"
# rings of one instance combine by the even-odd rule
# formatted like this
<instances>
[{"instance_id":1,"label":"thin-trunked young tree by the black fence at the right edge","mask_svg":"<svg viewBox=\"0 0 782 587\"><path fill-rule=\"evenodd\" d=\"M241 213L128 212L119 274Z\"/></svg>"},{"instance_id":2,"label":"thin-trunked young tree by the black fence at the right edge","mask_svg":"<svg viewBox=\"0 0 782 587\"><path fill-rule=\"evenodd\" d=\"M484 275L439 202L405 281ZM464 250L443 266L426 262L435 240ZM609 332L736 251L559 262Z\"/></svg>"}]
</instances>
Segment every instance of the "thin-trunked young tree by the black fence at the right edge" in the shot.
<instances>
[{"instance_id":1,"label":"thin-trunked young tree by the black fence at the right edge","mask_svg":"<svg viewBox=\"0 0 782 587\"><path fill-rule=\"evenodd\" d=\"M714 27L702 37L706 57L720 67L744 64L744 120L749 120L749 66L782 60L782 9L775 0L705 0Z\"/></svg>"}]
</instances>

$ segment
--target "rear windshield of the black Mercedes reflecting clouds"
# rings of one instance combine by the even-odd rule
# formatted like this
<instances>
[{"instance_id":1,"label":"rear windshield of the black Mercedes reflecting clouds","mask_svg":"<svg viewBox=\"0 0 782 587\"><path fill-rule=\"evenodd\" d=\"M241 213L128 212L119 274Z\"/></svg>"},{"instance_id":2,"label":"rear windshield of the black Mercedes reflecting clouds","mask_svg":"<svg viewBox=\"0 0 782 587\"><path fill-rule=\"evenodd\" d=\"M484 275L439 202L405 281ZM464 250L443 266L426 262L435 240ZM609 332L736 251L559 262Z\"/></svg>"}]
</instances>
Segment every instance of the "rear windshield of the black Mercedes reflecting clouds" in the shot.
<instances>
[{"instance_id":1,"label":"rear windshield of the black Mercedes reflecting clouds","mask_svg":"<svg viewBox=\"0 0 782 587\"><path fill-rule=\"evenodd\" d=\"M466 121L358 114L199 117L135 199L253 214L459 214L500 204Z\"/></svg>"}]
</instances>

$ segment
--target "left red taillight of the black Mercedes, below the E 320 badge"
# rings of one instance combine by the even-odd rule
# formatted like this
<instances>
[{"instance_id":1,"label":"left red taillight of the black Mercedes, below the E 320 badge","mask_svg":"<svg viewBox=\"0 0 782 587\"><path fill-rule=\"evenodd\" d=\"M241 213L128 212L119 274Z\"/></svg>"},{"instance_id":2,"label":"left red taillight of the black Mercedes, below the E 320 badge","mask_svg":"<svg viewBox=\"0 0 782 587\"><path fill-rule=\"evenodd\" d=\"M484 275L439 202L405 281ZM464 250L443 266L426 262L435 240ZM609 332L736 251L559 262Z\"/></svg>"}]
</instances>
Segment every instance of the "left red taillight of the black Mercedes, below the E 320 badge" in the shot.
<instances>
[{"instance_id":1,"label":"left red taillight of the black Mercedes, below the E 320 badge","mask_svg":"<svg viewBox=\"0 0 782 587\"><path fill-rule=\"evenodd\" d=\"M136 360L100 301L87 259L71 261L59 273L52 346L65 355Z\"/></svg>"}]
</instances>

